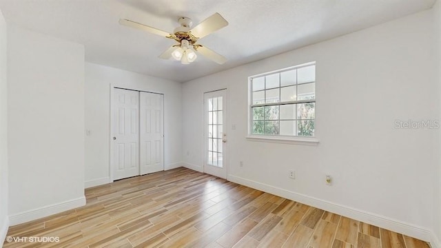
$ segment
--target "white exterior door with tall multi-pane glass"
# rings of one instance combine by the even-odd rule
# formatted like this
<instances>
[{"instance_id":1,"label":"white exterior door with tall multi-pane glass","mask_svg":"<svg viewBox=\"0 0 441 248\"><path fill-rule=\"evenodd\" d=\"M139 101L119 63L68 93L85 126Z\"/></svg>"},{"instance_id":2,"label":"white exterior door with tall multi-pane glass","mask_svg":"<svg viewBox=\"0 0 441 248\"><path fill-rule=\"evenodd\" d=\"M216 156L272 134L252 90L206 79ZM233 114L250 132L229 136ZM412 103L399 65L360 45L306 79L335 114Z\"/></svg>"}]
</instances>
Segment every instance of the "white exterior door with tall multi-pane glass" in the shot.
<instances>
[{"instance_id":1,"label":"white exterior door with tall multi-pane glass","mask_svg":"<svg viewBox=\"0 0 441 248\"><path fill-rule=\"evenodd\" d=\"M204 94L204 172L227 178L227 90Z\"/></svg>"}]
</instances>

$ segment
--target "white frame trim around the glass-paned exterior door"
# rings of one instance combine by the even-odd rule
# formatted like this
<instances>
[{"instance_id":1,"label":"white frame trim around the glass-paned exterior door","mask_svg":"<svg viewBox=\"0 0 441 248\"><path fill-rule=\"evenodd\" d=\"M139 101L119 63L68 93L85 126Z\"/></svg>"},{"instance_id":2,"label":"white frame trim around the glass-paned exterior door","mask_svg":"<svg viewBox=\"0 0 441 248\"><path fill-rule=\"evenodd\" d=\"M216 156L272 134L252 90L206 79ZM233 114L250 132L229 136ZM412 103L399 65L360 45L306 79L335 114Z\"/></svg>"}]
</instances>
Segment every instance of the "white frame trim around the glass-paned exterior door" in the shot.
<instances>
[{"instance_id":1,"label":"white frame trim around the glass-paned exterior door","mask_svg":"<svg viewBox=\"0 0 441 248\"><path fill-rule=\"evenodd\" d=\"M202 131L202 172L205 173L205 94L206 93L212 93L212 92L218 92L221 90L225 90L225 93L227 94L226 96L226 105L227 105L227 121L225 122L225 130L228 131L228 122L229 122L229 118L228 118L228 112L229 112L229 101L228 101L228 88L220 88L218 90L207 90L205 92L202 92L202 123L203 123L203 131ZM227 138L229 139L229 132L227 132ZM227 152L227 159L226 159L226 163L227 165L225 166L225 180L228 180L228 171L229 171L229 141L227 141L225 147L226 147L226 152Z\"/></svg>"}]
</instances>

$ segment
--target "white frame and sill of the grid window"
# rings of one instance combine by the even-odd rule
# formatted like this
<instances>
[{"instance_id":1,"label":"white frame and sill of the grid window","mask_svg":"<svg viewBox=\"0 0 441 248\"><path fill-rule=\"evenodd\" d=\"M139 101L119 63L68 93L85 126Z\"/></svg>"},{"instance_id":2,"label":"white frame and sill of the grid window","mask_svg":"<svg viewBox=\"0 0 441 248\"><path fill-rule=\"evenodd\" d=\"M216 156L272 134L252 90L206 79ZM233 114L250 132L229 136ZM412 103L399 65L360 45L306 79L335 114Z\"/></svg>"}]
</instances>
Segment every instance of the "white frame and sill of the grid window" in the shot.
<instances>
[{"instance_id":1,"label":"white frame and sill of the grid window","mask_svg":"<svg viewBox=\"0 0 441 248\"><path fill-rule=\"evenodd\" d=\"M269 135L269 134L253 134L252 128L253 128L253 112L252 107L259 107L259 106L268 106L268 105L285 105L285 104L297 104L297 103L310 103L317 101L317 94L315 90L316 97L314 101L311 100L300 100L300 101L285 101L283 103L263 103L263 104L253 104L252 101L252 94L253 94L253 87L252 87L252 79L258 78L261 76L268 76L271 74L276 74L280 72L285 72L289 70L304 68L310 65L316 65L316 61L309 62L309 63L303 63L301 65L295 65L289 68L284 68L281 70L274 70L271 72L265 72L263 74L256 74L254 76L248 77L248 135L247 140L248 141L263 141L263 142L270 142L270 143L289 143L289 144L300 144L300 145L317 145L318 144L318 138L317 138L317 122L316 122L316 116L314 116L314 136L285 136L285 135ZM315 80L317 82L317 80ZM298 85L296 83L296 85ZM317 83L316 83L317 85ZM280 85L278 87L280 89ZM276 88L275 88L276 89ZM280 96L279 96L280 97ZM316 105L316 104L315 104ZM280 114L280 112L279 112Z\"/></svg>"}]
</instances>

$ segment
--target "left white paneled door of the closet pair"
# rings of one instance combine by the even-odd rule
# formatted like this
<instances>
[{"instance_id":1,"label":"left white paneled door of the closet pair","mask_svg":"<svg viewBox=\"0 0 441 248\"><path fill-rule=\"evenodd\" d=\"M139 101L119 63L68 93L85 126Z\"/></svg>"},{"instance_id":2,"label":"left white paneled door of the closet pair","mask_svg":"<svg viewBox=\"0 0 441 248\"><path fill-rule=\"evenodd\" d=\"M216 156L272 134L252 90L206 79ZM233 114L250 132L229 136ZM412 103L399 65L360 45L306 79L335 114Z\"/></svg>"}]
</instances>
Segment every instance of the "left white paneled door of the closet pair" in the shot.
<instances>
[{"instance_id":1,"label":"left white paneled door of the closet pair","mask_svg":"<svg viewBox=\"0 0 441 248\"><path fill-rule=\"evenodd\" d=\"M139 175L139 92L114 89L114 180Z\"/></svg>"}]
</instances>

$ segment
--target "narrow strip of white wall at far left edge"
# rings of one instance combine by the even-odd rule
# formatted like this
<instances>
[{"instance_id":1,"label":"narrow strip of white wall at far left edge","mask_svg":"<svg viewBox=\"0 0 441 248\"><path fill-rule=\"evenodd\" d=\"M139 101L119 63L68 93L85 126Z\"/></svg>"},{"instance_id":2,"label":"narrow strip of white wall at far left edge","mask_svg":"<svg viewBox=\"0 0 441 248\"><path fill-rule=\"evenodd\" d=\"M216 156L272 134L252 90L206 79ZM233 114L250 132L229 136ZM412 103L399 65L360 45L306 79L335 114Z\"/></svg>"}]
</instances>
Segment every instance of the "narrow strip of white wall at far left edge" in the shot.
<instances>
[{"instance_id":1,"label":"narrow strip of white wall at far left edge","mask_svg":"<svg viewBox=\"0 0 441 248\"><path fill-rule=\"evenodd\" d=\"M6 237L8 218L8 86L7 30L0 11L0 243Z\"/></svg>"}]
</instances>

